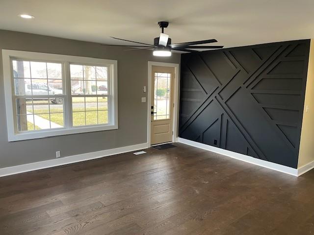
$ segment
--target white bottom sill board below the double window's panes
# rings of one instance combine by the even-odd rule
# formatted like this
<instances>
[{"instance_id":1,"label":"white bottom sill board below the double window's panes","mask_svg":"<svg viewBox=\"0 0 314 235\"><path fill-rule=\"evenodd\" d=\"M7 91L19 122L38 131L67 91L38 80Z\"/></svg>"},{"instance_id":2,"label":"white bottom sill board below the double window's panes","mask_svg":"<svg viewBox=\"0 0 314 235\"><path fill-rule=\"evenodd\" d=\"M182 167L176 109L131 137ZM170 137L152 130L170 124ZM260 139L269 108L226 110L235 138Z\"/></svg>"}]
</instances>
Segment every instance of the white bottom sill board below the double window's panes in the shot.
<instances>
[{"instance_id":1,"label":"white bottom sill board below the double window's panes","mask_svg":"<svg viewBox=\"0 0 314 235\"><path fill-rule=\"evenodd\" d=\"M103 125L103 126L82 126L82 127L73 127L72 129L53 129L53 130L42 130L42 131L34 131L34 132L24 132L18 133L14 135L8 136L8 141L25 141L25 140L33 140L33 139L41 139L53 136L64 136L64 135L72 135L79 133L88 133L88 132L96 132L96 131L107 131L107 130L116 130L118 129L118 125Z\"/></svg>"}]
</instances>

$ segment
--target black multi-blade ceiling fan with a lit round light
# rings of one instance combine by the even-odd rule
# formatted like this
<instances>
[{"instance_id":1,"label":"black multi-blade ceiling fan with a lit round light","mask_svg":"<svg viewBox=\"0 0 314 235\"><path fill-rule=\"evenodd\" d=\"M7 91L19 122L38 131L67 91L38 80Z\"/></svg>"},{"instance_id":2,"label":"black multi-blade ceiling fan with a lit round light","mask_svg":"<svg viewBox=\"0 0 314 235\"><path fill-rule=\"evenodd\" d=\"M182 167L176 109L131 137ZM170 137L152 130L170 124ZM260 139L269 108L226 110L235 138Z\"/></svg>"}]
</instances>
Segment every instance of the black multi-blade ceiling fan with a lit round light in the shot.
<instances>
[{"instance_id":1,"label":"black multi-blade ceiling fan with a lit round light","mask_svg":"<svg viewBox=\"0 0 314 235\"><path fill-rule=\"evenodd\" d=\"M130 49L130 50L154 49L153 55L155 56L171 56L171 50L179 50L179 51L185 51L185 52L197 52L198 50L195 50L195 49L218 49L218 48L223 47L223 46L195 46L195 45L200 45L200 44L216 43L217 42L216 39L171 44L171 38L169 38L169 35L164 33L164 28L168 27L169 22L160 21L158 22L158 25L161 28L161 33L159 37L154 38L154 45L134 42L131 40L115 38L115 37L111 37L111 38L126 41L126 42L131 42L131 43L138 43L141 45L138 45L138 46L108 45L108 44L101 44L101 45L119 46L119 47L137 47L135 49ZM142 45L145 45L145 46L142 46ZM141 47L141 48L138 48L138 47Z\"/></svg>"}]
</instances>

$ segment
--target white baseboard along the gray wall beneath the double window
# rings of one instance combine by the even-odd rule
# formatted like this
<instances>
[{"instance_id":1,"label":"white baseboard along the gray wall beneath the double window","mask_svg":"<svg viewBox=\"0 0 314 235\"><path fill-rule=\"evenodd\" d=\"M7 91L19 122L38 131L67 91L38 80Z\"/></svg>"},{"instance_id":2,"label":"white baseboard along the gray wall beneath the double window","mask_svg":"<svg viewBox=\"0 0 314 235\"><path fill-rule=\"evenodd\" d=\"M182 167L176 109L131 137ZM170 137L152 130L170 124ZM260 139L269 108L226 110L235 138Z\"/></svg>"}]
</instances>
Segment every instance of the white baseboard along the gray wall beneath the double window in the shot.
<instances>
[{"instance_id":1,"label":"white baseboard along the gray wall beneath the double window","mask_svg":"<svg viewBox=\"0 0 314 235\"><path fill-rule=\"evenodd\" d=\"M64 158L57 158L57 159L42 161L42 162L0 168L0 177L23 173L23 172L32 171L32 170L49 168L49 167L58 166L58 165L65 165L65 164L77 163L77 162L82 162L82 161L91 160L91 159L103 158L103 157L111 156L115 154L136 151L136 150L144 149L147 147L148 147L147 143L140 143L140 144L125 146L125 147L120 147L120 148L112 148L112 149L106 149L106 150L101 150L97 152L83 153L83 154L68 156Z\"/></svg>"}]
</instances>

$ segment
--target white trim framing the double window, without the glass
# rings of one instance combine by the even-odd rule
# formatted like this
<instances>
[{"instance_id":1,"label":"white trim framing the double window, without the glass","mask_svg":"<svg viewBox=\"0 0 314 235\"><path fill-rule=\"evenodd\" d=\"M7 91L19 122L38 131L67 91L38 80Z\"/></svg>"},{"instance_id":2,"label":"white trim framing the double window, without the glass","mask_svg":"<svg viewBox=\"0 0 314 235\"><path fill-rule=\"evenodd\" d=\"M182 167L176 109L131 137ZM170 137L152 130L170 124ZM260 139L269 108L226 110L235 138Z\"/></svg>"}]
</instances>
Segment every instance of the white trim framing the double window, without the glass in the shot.
<instances>
[{"instance_id":1,"label":"white trim framing the double window, without the glass","mask_svg":"<svg viewBox=\"0 0 314 235\"><path fill-rule=\"evenodd\" d=\"M95 125L95 126L79 126L71 129L49 129L40 130L34 132L21 132L15 131L15 117L13 108L13 86L12 86L12 71L11 71L11 57L27 60L51 60L56 62L65 63L79 63L79 64L93 64L93 65L107 65L110 68L109 86L111 89L111 95L114 97L113 102L109 102L109 123L106 125ZM71 55L59 55L59 54L48 54L39 52L19 51L19 50L2 50L2 61L3 61L3 79L4 79L4 94L5 94L5 107L6 107L6 122L8 131L8 141L22 141L39 139L52 136L70 135L77 133L86 133L94 131L105 131L118 129L118 72L117 72L117 61L97 59L90 57L71 56ZM66 67L68 68L68 67ZM70 71L64 71L64 86L66 90L66 98L70 97L69 94L69 83L70 83ZM70 88L71 90L71 88ZM64 106L65 112L70 112L70 103L66 102ZM67 107L66 107L67 106Z\"/></svg>"}]
</instances>

